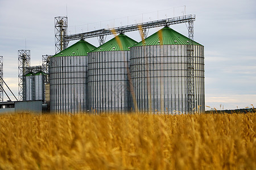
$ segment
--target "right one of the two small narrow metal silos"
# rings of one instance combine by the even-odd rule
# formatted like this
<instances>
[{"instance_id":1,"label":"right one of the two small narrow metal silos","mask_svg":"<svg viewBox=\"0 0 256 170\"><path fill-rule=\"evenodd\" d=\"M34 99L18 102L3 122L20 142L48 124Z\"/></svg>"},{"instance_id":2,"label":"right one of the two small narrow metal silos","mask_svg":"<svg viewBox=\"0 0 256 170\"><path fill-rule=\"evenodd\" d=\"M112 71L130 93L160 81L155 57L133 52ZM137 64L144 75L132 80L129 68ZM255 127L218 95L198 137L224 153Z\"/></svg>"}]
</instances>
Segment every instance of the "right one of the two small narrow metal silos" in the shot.
<instances>
[{"instance_id":1,"label":"right one of the two small narrow metal silos","mask_svg":"<svg viewBox=\"0 0 256 170\"><path fill-rule=\"evenodd\" d=\"M34 74L35 77L35 100L45 100L46 96L45 86L44 86L44 77L46 73L43 71L38 71L38 73Z\"/></svg>"}]
</instances>

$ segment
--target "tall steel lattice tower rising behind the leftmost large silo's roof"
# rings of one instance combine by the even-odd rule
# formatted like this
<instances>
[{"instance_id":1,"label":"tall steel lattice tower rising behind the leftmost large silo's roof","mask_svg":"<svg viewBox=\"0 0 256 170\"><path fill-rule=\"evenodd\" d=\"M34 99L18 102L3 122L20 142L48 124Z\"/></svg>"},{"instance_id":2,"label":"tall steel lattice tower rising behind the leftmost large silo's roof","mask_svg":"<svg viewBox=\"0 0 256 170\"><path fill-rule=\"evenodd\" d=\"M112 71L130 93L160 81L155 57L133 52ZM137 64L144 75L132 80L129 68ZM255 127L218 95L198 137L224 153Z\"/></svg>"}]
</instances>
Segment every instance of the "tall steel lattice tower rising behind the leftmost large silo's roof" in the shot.
<instances>
[{"instance_id":1,"label":"tall steel lattice tower rising behind the leftmost large silo's roof","mask_svg":"<svg viewBox=\"0 0 256 170\"><path fill-rule=\"evenodd\" d=\"M68 41L65 37L68 33L68 17L55 17L55 54L61 52L68 47Z\"/></svg>"}]
</instances>

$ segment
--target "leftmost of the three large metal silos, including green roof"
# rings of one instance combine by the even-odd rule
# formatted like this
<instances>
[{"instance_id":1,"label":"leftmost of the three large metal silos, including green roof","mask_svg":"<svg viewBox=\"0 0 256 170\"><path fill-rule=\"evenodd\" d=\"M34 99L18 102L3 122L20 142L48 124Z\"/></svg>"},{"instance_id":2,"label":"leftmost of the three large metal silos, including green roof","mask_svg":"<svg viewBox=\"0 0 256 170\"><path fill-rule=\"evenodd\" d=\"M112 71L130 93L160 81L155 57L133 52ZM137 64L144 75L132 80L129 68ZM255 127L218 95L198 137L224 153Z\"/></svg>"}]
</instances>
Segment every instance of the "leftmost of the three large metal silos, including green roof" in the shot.
<instances>
[{"instance_id":1,"label":"leftmost of the three large metal silos, including green roof","mask_svg":"<svg viewBox=\"0 0 256 170\"><path fill-rule=\"evenodd\" d=\"M49 59L50 111L86 111L87 54L96 47L80 40Z\"/></svg>"}]
</instances>

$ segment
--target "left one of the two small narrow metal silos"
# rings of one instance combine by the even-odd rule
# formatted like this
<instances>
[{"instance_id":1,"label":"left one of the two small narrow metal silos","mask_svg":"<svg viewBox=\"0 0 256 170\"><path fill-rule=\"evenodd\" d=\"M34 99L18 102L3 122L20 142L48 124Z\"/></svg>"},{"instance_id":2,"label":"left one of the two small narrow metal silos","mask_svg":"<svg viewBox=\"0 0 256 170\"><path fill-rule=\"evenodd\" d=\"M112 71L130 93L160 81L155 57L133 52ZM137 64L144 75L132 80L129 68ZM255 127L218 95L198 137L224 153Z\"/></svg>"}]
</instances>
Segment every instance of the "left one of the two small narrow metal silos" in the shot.
<instances>
[{"instance_id":1,"label":"left one of the two small narrow metal silos","mask_svg":"<svg viewBox=\"0 0 256 170\"><path fill-rule=\"evenodd\" d=\"M35 100L35 76L30 72L23 76L23 100Z\"/></svg>"}]
</instances>

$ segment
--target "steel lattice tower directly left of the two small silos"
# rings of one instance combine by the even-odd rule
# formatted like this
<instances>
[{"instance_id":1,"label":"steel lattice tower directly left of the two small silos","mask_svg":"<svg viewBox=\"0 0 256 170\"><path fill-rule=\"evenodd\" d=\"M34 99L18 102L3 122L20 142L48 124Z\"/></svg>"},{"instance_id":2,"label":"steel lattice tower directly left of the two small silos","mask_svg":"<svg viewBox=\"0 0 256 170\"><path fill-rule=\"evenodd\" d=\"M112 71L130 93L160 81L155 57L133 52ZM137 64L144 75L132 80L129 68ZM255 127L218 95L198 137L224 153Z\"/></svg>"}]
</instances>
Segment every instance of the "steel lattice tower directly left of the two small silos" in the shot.
<instances>
[{"instance_id":1,"label":"steel lattice tower directly left of the two small silos","mask_svg":"<svg viewBox=\"0 0 256 170\"><path fill-rule=\"evenodd\" d=\"M26 68L30 67L30 50L18 50L18 69L19 69L19 100L23 100L23 88L25 84L23 76L26 74Z\"/></svg>"}]
</instances>

